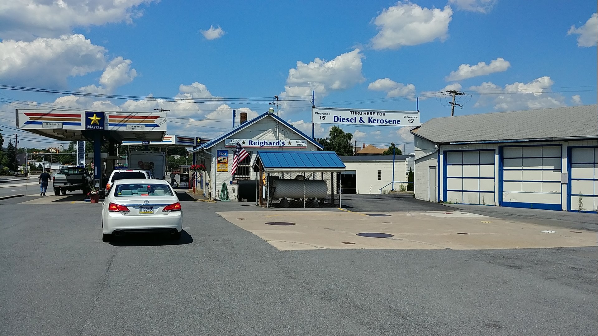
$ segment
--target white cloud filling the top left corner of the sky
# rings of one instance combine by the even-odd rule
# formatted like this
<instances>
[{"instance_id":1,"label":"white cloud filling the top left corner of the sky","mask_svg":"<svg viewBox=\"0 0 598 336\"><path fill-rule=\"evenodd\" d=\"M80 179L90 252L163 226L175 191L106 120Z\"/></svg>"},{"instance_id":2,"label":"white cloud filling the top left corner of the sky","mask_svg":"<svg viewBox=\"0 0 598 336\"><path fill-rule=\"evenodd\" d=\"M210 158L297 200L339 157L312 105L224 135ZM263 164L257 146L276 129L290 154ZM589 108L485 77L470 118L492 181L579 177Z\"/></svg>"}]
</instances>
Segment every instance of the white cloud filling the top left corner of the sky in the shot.
<instances>
[{"instance_id":1,"label":"white cloud filling the top left corner of the sky","mask_svg":"<svg viewBox=\"0 0 598 336\"><path fill-rule=\"evenodd\" d=\"M0 38L58 37L74 27L131 23L152 0L6 0L0 2Z\"/></svg>"}]
</instances>

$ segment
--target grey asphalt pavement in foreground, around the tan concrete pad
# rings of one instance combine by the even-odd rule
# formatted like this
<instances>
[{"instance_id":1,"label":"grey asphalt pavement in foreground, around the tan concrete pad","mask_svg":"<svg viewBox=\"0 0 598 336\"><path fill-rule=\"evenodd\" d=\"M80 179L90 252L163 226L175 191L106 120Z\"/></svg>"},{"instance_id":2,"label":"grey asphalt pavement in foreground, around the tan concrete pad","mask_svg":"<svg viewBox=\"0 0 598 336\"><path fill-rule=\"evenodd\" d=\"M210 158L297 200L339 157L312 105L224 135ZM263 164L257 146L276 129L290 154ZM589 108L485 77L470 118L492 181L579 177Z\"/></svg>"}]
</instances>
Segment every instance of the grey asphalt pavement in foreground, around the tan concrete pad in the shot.
<instances>
[{"instance_id":1,"label":"grey asphalt pavement in foreground, around the tan concrete pad","mask_svg":"<svg viewBox=\"0 0 598 336\"><path fill-rule=\"evenodd\" d=\"M177 243L139 236L107 244L99 204L18 201L0 201L0 335L598 329L595 247L278 251L216 215L261 210L237 202L185 202Z\"/></svg>"}]
</instances>

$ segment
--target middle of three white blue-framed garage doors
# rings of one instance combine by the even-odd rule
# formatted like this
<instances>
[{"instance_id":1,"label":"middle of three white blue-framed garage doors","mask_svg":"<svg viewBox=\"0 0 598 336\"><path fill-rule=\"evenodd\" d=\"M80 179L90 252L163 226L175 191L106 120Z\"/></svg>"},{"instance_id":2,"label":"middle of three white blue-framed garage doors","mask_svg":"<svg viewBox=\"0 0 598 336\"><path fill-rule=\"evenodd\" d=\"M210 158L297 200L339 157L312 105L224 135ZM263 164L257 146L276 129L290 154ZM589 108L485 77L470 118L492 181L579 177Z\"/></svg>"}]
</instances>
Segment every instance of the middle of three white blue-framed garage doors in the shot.
<instances>
[{"instance_id":1,"label":"middle of three white blue-framed garage doors","mask_svg":"<svg viewBox=\"0 0 598 336\"><path fill-rule=\"evenodd\" d=\"M502 147L501 205L562 210L561 146Z\"/></svg>"}]
</instances>

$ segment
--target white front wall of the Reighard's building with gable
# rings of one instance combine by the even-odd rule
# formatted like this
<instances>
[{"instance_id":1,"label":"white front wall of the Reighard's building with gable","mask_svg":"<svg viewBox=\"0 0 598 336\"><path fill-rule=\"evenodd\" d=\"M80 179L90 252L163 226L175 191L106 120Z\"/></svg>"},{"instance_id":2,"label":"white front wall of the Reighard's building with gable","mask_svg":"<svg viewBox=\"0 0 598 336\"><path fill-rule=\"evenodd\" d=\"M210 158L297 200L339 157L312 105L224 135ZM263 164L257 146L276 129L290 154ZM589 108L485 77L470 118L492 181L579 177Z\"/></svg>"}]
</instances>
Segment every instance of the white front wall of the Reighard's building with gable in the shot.
<instances>
[{"instance_id":1,"label":"white front wall of the Reighard's building with gable","mask_svg":"<svg viewBox=\"0 0 598 336\"><path fill-rule=\"evenodd\" d=\"M276 127L279 127L278 132ZM278 123L274 118L266 117L257 123L247 127L246 129L241 130L240 132L229 136L230 139L259 139L259 140L278 140L278 138L286 138L289 140L305 140L301 135L295 133L294 130L289 129L283 124ZM220 191L222 188L222 183L225 183L228 188L228 197L231 200L237 200L237 185L230 184L232 181L233 176L230 174L230 167L233 163L234 157L234 148L225 147L224 146L225 139L221 142L216 143L216 145L212 146L209 151L213 154L213 157L210 155L205 155L206 160L206 172L204 174L204 180L206 180L209 176L209 190L205 190L206 196L208 196L209 191L212 192L212 197L216 200L220 199ZM228 172L216 172L215 169L215 156L218 150L228 150ZM307 148L255 148L255 147L246 147L246 151L251 152L251 165L253 166L255 161L255 156L259 150L264 151L318 151L318 147L313 145L310 142L307 142ZM201 155L202 152L198 154ZM199 160L198 160L199 161ZM251 178L255 179L256 173L251 172ZM212 183L215 181L214 183Z\"/></svg>"}]
</instances>

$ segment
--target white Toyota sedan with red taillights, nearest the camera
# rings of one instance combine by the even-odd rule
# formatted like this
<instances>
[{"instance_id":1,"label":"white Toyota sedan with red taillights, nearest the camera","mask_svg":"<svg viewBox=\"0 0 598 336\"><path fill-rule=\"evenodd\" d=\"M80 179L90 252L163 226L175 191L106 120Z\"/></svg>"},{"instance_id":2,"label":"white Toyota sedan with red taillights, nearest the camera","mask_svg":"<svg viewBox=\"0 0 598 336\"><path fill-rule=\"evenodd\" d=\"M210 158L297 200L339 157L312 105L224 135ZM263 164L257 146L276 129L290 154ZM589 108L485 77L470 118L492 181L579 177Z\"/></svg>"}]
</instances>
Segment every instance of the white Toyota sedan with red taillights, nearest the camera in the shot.
<instances>
[{"instance_id":1,"label":"white Toyota sedan with red taillights, nearest the camera","mask_svg":"<svg viewBox=\"0 0 598 336\"><path fill-rule=\"evenodd\" d=\"M164 232L181 238L181 203L170 185L158 179L114 181L102 206L102 241L136 232Z\"/></svg>"}]
</instances>

